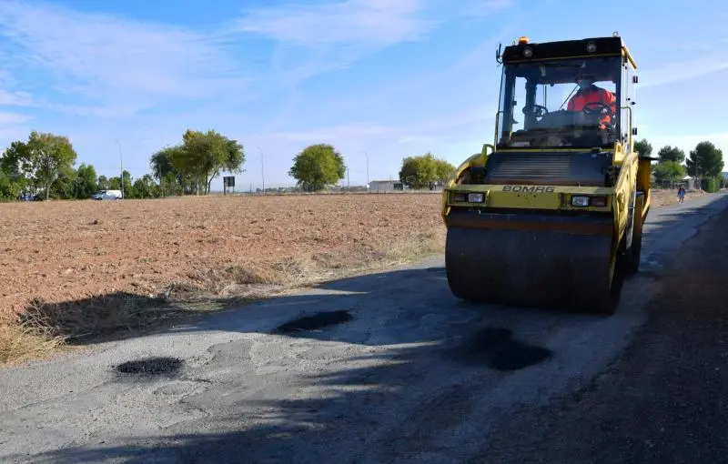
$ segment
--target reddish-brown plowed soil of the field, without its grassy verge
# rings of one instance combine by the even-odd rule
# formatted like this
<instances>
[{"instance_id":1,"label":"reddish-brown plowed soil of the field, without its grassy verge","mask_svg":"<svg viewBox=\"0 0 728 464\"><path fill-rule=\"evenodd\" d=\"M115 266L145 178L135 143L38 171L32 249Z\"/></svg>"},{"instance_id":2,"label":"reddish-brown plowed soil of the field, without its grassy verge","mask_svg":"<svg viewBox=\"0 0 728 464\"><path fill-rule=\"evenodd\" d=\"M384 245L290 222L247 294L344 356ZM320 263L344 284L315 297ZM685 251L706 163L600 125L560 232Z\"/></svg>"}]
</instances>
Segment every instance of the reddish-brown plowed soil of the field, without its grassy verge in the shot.
<instances>
[{"instance_id":1,"label":"reddish-brown plowed soil of the field, without its grassy verge","mask_svg":"<svg viewBox=\"0 0 728 464\"><path fill-rule=\"evenodd\" d=\"M246 283L240 279L275 281L260 269L304 259L361 266L392 247L431 247L444 231L440 196L431 194L49 201L0 205L0 217L5 314L34 298L220 284L233 267L238 272L228 277Z\"/></svg>"}]
</instances>

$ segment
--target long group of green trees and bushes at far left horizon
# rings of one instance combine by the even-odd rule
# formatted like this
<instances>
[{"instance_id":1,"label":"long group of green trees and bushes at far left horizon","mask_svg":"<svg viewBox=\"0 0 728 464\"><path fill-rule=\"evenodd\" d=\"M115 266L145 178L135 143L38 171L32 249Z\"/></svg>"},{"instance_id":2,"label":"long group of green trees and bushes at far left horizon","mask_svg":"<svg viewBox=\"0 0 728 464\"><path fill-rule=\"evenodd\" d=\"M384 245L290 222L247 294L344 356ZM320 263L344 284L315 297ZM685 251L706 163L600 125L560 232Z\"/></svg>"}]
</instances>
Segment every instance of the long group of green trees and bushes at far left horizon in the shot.
<instances>
[{"instance_id":1,"label":"long group of green trees and bushes at far left horizon","mask_svg":"<svg viewBox=\"0 0 728 464\"><path fill-rule=\"evenodd\" d=\"M126 198L209 193L221 172L242 172L243 146L215 131L187 130L177 146L152 156L151 173L132 182L131 174L97 176L92 165L77 168L76 150L66 136L33 131L17 140L0 157L0 199L18 197L91 197L105 189L124 190Z\"/></svg>"}]
</instances>

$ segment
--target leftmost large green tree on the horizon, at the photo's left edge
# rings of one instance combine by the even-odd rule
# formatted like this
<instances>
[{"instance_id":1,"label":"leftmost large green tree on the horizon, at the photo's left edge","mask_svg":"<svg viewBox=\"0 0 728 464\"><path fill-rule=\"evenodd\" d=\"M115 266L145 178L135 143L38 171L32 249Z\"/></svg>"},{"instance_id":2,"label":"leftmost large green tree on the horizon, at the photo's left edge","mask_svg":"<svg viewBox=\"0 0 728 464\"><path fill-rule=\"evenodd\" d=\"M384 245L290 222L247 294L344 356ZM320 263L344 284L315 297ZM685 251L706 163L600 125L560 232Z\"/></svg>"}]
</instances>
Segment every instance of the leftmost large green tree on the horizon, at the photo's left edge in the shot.
<instances>
[{"instance_id":1,"label":"leftmost large green tree on the horizon, at the photo's left edge","mask_svg":"<svg viewBox=\"0 0 728 464\"><path fill-rule=\"evenodd\" d=\"M66 179L76 163L76 150L66 136L33 131L27 142L16 141L5 150L11 170L23 173L36 187L51 194L51 187L59 177Z\"/></svg>"}]
</instances>

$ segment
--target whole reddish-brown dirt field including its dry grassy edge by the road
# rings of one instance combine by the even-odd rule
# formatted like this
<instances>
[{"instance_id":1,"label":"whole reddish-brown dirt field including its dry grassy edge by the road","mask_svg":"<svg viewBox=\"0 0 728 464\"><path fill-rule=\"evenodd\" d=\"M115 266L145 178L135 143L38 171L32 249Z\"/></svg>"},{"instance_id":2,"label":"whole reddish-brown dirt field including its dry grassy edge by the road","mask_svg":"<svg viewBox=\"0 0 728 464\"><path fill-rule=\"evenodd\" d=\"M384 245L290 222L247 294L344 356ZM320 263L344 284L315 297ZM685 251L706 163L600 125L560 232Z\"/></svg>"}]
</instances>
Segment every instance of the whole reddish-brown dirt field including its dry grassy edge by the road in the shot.
<instances>
[{"instance_id":1,"label":"whole reddish-brown dirt field including its dry grassy edge by the road","mask_svg":"<svg viewBox=\"0 0 728 464\"><path fill-rule=\"evenodd\" d=\"M144 325L161 303L229 305L404 264L441 251L445 232L432 194L15 203L0 216L0 318L64 338Z\"/></svg>"}]
</instances>

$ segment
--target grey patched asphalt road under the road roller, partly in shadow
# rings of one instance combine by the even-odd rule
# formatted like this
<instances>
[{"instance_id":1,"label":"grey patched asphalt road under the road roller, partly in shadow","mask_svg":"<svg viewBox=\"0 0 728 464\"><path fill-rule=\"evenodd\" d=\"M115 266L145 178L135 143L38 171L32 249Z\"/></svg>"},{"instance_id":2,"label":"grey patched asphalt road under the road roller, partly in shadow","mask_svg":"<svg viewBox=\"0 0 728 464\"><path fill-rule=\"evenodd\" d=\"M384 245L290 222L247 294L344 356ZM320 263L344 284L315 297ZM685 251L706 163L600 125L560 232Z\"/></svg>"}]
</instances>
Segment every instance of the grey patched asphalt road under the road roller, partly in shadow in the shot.
<instances>
[{"instance_id":1,"label":"grey patched asphalt road under the road roller, partly in shadow","mask_svg":"<svg viewBox=\"0 0 728 464\"><path fill-rule=\"evenodd\" d=\"M610 318L460 303L435 259L5 368L0 461L502 462L506 430L622 358L675 251L726 206L653 210Z\"/></svg>"}]
</instances>

